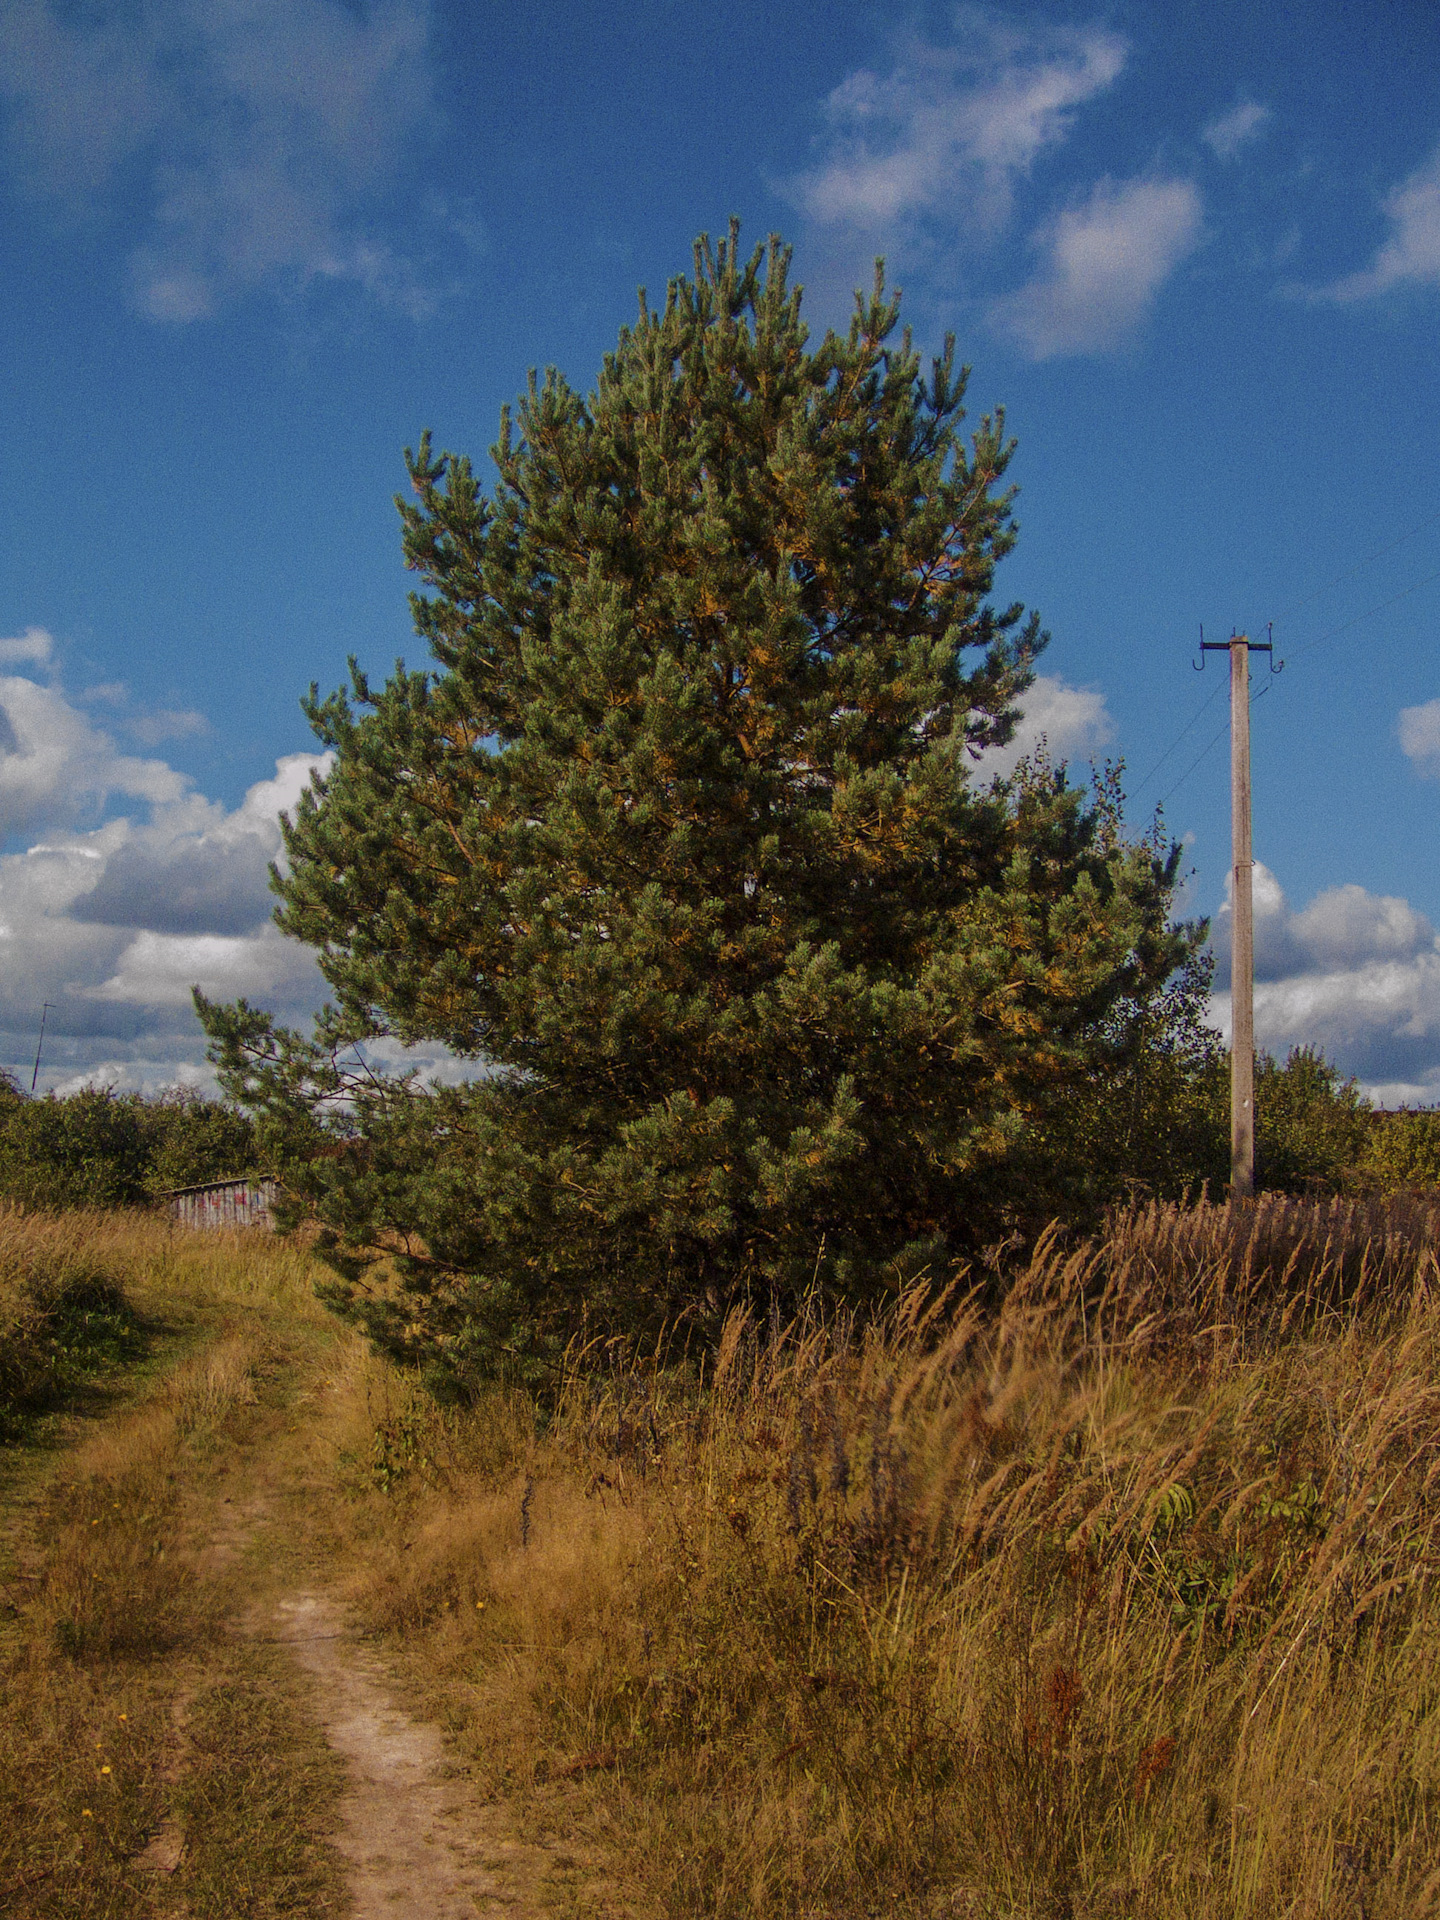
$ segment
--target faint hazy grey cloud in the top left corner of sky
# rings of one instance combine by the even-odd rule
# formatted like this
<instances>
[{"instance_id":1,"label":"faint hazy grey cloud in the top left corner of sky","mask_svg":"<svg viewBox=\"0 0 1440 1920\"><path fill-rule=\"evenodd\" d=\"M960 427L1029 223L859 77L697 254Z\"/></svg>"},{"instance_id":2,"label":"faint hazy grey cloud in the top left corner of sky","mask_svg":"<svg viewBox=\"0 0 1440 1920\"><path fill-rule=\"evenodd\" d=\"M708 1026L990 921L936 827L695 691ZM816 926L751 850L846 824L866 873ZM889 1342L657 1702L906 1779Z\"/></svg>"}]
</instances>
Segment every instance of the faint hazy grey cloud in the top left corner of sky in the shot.
<instances>
[{"instance_id":1,"label":"faint hazy grey cloud in the top left corner of sky","mask_svg":"<svg viewBox=\"0 0 1440 1920\"><path fill-rule=\"evenodd\" d=\"M240 290L426 292L374 230L430 104L428 0L6 0L13 182L131 228L131 294L194 321Z\"/></svg>"}]
</instances>

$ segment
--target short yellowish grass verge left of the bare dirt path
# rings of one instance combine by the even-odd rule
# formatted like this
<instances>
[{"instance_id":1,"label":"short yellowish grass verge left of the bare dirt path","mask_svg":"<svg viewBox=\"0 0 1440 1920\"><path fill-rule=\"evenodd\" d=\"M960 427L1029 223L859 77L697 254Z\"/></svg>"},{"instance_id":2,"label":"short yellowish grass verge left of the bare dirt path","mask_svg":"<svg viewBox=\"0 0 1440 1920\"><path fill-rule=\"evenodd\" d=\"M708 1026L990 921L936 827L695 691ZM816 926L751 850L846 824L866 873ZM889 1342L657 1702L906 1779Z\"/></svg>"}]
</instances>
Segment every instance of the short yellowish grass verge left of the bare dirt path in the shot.
<instances>
[{"instance_id":1,"label":"short yellowish grass verge left of the bare dirt path","mask_svg":"<svg viewBox=\"0 0 1440 1920\"><path fill-rule=\"evenodd\" d=\"M338 1766L284 1657L227 1632L234 1594L202 1557L236 1453L288 1417L282 1334L313 1317L307 1277L259 1236L0 1219L12 1267L56 1248L125 1283L134 1323L171 1336L171 1367L67 1452L10 1450L23 1498L0 1622L0 1912L324 1912ZM150 1843L167 1832L180 1845L165 1870Z\"/></svg>"}]
</instances>

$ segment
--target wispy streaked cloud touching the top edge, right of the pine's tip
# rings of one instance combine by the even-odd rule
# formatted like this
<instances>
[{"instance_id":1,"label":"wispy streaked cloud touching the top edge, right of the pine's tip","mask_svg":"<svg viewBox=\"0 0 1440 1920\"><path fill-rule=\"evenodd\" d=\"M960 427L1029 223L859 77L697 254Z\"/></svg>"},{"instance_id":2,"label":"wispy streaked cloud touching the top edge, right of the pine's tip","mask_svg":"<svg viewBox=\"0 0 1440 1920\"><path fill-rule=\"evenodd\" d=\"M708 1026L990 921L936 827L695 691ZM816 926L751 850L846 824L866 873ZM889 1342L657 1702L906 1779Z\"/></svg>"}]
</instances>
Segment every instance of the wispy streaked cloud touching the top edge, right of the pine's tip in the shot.
<instances>
[{"instance_id":1,"label":"wispy streaked cloud touching the top edge, right of the pine's tip","mask_svg":"<svg viewBox=\"0 0 1440 1920\"><path fill-rule=\"evenodd\" d=\"M912 38L889 73L858 69L835 88L824 157L787 192L824 227L1000 227L1016 182L1116 81L1125 50L1102 27L1023 29L964 8L954 44Z\"/></svg>"}]
</instances>

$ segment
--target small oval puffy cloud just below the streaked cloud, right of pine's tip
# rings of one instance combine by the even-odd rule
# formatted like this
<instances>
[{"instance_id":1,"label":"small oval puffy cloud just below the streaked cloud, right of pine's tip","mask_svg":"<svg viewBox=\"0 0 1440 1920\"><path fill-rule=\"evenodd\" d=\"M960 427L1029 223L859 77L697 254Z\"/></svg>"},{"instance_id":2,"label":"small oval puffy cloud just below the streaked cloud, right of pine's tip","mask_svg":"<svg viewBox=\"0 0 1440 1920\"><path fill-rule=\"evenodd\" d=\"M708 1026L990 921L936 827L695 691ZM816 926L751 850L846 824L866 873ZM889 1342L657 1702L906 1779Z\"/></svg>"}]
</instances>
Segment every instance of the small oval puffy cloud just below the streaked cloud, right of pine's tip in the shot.
<instances>
[{"instance_id":1,"label":"small oval puffy cloud just below the streaked cloud, right of pine's tip","mask_svg":"<svg viewBox=\"0 0 1440 1920\"><path fill-rule=\"evenodd\" d=\"M1202 228L1192 180L1100 180L1083 205L1037 232L1044 265L995 301L991 324L1033 359L1121 346Z\"/></svg>"}]
</instances>

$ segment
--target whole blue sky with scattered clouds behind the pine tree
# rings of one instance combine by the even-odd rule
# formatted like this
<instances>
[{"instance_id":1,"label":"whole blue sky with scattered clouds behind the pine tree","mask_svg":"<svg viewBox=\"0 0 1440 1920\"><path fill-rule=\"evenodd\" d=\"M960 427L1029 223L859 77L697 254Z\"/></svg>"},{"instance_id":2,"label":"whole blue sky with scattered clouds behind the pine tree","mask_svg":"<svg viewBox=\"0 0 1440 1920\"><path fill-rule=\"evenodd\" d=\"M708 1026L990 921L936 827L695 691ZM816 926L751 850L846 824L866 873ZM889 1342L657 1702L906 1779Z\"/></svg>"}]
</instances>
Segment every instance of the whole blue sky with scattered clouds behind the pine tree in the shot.
<instances>
[{"instance_id":1,"label":"whole blue sky with scattered clouds behind the pine tree","mask_svg":"<svg viewBox=\"0 0 1440 1920\"><path fill-rule=\"evenodd\" d=\"M4 0L0 1064L44 1000L60 1087L200 1077L192 979L313 1002L263 872L303 689L417 653L401 447L588 386L732 213L820 328L883 253L1006 405L1027 735L1125 756L1221 941L1190 657L1275 622L1260 1037L1440 1100L1430 0Z\"/></svg>"}]
</instances>

